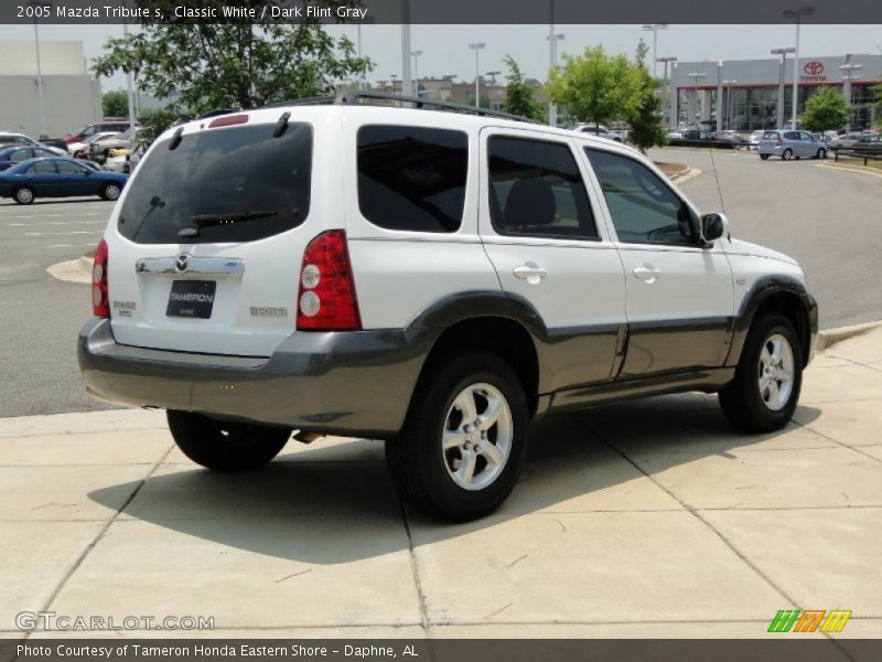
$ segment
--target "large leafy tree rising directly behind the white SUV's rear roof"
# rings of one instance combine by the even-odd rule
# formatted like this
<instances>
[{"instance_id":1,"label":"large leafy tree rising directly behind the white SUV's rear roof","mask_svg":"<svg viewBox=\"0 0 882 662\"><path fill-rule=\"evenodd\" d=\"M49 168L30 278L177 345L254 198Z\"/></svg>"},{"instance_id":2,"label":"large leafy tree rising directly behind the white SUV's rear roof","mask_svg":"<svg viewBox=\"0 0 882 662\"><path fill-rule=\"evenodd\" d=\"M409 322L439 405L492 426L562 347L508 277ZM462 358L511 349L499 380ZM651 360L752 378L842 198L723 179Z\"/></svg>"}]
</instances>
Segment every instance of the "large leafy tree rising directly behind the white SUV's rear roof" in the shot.
<instances>
[{"instance_id":1,"label":"large leafy tree rising directly behind the white SUV's rear roof","mask_svg":"<svg viewBox=\"0 0 882 662\"><path fill-rule=\"evenodd\" d=\"M168 1L139 4L171 14ZM267 0L238 2L256 8L257 15L265 4ZM250 23L219 18L220 0L193 0L190 6L213 7L218 18L212 24L144 22L128 36L108 40L93 71L99 76L130 72L138 89L163 99L170 115L185 117L324 94L334 82L358 78L372 67L368 58L355 56L349 39L333 39L318 19Z\"/></svg>"}]
</instances>

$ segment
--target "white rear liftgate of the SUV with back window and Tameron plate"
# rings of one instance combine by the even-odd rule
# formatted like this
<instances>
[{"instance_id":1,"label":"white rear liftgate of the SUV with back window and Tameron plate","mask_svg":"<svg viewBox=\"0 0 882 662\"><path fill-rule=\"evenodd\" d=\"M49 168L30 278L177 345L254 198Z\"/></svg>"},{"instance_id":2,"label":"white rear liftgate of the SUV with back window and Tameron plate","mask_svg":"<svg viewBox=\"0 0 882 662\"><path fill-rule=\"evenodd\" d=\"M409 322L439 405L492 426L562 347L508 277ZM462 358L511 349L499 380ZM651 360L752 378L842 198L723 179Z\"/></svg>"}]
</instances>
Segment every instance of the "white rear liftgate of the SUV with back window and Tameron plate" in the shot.
<instances>
[{"instance_id":1,"label":"white rear liftgate of the SUV with back window and Tameron plate","mask_svg":"<svg viewBox=\"0 0 882 662\"><path fill-rule=\"evenodd\" d=\"M295 332L304 248L343 226L333 113L255 110L157 141L108 229L117 342L269 356Z\"/></svg>"}]
</instances>

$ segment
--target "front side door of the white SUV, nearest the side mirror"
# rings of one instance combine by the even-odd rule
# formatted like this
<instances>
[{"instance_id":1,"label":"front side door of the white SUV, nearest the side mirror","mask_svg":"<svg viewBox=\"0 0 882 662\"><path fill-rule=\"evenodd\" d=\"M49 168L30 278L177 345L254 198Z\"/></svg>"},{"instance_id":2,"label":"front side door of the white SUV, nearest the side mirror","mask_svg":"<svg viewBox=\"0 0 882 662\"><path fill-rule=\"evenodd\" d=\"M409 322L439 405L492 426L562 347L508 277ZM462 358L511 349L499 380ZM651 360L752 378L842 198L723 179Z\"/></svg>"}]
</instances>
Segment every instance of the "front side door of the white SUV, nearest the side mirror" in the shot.
<instances>
[{"instance_id":1,"label":"front side door of the white SUV, nearest the side mirror","mask_svg":"<svg viewBox=\"0 0 882 662\"><path fill-rule=\"evenodd\" d=\"M585 154L627 282L628 338L620 376L721 366L734 308L721 242L700 246L696 212L643 162L624 151L588 148Z\"/></svg>"}]
</instances>

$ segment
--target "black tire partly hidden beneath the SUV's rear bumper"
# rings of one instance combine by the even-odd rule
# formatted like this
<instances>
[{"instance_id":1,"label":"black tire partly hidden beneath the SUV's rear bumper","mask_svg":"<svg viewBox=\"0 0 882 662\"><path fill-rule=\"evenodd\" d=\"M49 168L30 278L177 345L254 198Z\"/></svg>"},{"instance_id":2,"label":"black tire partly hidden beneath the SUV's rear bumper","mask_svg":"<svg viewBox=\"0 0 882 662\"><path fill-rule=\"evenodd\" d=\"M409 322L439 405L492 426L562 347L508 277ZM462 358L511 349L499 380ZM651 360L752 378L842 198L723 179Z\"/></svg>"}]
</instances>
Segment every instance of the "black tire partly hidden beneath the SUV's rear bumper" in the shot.
<instances>
[{"instance_id":1,"label":"black tire partly hidden beneath the SUV's rear bumper","mask_svg":"<svg viewBox=\"0 0 882 662\"><path fill-rule=\"evenodd\" d=\"M169 409L169 429L178 448L197 465L215 471L257 469L279 455L291 430L215 420Z\"/></svg>"}]
</instances>

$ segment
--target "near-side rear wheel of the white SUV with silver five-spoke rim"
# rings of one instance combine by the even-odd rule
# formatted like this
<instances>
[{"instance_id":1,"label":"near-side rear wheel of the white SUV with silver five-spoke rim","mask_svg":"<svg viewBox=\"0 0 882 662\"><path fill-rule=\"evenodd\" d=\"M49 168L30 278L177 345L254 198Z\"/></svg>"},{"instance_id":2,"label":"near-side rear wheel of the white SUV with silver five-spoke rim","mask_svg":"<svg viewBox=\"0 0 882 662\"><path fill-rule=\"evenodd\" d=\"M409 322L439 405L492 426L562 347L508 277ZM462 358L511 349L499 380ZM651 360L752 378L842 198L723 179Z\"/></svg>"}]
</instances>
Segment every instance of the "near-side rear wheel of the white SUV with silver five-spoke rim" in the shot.
<instances>
[{"instance_id":1,"label":"near-side rear wheel of the white SUV with silver five-spoke rim","mask_svg":"<svg viewBox=\"0 0 882 662\"><path fill-rule=\"evenodd\" d=\"M452 522L495 511L517 482L527 451L524 387L502 359L454 355L430 366L386 461L402 498Z\"/></svg>"}]
</instances>

